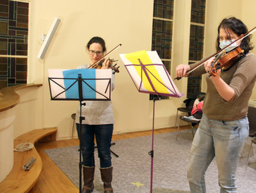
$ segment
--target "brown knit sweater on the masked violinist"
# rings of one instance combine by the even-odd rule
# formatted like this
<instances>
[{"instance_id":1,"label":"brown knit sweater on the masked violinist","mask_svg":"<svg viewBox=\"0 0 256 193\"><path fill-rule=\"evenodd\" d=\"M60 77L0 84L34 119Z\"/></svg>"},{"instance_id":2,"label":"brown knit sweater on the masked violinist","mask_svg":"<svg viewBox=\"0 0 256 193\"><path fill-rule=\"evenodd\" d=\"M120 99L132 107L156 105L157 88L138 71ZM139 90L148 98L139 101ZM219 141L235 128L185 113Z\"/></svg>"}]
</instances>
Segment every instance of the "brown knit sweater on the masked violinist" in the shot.
<instances>
[{"instance_id":1,"label":"brown knit sweater on the masked violinist","mask_svg":"<svg viewBox=\"0 0 256 193\"><path fill-rule=\"evenodd\" d=\"M195 64L191 64L191 67ZM204 66L195 69L189 77L206 73ZM207 91L203 103L203 113L210 119L234 121L244 118L248 111L249 98L256 80L256 56L247 53L243 58L235 61L227 70L222 69L220 77L235 91L235 96L226 102L219 95L210 77L206 77Z\"/></svg>"}]
</instances>

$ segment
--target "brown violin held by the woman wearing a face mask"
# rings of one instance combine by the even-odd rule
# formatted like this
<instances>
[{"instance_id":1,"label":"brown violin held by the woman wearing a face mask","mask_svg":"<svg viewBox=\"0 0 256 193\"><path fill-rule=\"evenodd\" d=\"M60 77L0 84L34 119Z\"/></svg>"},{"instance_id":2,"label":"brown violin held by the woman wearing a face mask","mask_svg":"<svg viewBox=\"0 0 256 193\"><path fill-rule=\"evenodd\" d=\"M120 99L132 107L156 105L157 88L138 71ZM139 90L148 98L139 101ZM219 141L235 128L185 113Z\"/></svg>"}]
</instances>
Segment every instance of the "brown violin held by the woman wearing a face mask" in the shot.
<instances>
[{"instance_id":1,"label":"brown violin held by the woman wearing a face mask","mask_svg":"<svg viewBox=\"0 0 256 193\"><path fill-rule=\"evenodd\" d=\"M232 66L233 62L236 61L241 56L244 56L244 50L238 46L234 50L231 50L229 53L223 52L215 58L215 61L211 64L211 69L208 71L208 74L211 76L217 75L217 69L228 69Z\"/></svg>"}]
</instances>

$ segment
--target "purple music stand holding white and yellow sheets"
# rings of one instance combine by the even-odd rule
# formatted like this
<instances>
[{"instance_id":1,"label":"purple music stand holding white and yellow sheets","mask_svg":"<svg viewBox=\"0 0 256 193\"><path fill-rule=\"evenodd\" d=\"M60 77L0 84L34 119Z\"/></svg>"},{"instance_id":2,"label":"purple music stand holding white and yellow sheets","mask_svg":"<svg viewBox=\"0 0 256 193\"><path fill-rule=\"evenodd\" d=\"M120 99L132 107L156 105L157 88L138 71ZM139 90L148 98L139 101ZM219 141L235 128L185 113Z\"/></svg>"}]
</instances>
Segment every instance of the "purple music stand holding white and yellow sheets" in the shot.
<instances>
[{"instance_id":1,"label":"purple music stand holding white and yellow sheets","mask_svg":"<svg viewBox=\"0 0 256 193\"><path fill-rule=\"evenodd\" d=\"M124 61L129 76L132 78L136 88L141 93L154 94L153 101L153 126L152 126L152 146L148 154L151 156L151 187L153 191L153 164L154 164L154 107L155 101L160 96L181 97L178 88L176 88L169 73L162 64L161 59L157 55L157 51L146 52L145 50L120 54Z\"/></svg>"}]
</instances>

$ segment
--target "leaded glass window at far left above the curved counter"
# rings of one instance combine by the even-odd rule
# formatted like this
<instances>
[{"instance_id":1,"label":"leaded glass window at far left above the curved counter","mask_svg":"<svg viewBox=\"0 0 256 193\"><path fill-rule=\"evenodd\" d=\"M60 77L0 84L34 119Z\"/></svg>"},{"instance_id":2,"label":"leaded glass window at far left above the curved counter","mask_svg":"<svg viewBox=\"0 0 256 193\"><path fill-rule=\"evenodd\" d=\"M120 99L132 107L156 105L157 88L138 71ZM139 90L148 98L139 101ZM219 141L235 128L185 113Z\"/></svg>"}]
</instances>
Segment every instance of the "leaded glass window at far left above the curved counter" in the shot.
<instances>
[{"instance_id":1,"label":"leaded glass window at far left above the curved counter","mask_svg":"<svg viewBox=\"0 0 256 193\"><path fill-rule=\"evenodd\" d=\"M0 89L26 83L29 3L0 1Z\"/></svg>"}]
</instances>

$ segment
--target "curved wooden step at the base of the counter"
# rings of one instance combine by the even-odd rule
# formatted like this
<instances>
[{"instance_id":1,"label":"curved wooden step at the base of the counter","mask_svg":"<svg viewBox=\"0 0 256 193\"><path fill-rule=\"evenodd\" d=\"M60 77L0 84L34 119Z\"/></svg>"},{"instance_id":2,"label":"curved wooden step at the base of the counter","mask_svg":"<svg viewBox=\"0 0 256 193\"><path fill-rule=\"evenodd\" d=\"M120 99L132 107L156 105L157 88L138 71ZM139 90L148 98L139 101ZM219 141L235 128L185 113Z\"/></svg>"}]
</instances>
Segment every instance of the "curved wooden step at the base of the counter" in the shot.
<instances>
[{"instance_id":1,"label":"curved wooden step at the base of the counter","mask_svg":"<svg viewBox=\"0 0 256 193\"><path fill-rule=\"evenodd\" d=\"M36 143L56 140L57 128L49 129L34 129L31 132L26 132L14 140L14 148L20 143ZM26 164L31 157L37 159L30 170L23 170L23 165ZM36 148L29 151L14 151L14 164L7 178L0 183L0 192L33 192L34 184L37 183L42 170L42 160L37 153Z\"/></svg>"}]
</instances>

